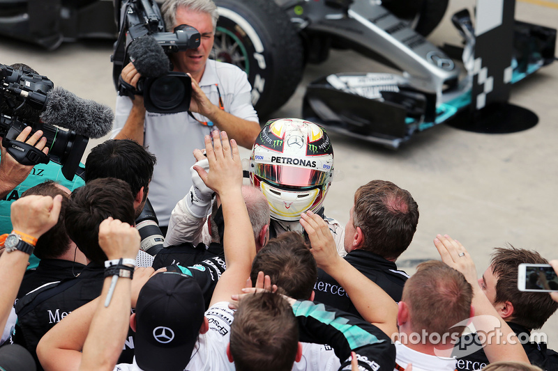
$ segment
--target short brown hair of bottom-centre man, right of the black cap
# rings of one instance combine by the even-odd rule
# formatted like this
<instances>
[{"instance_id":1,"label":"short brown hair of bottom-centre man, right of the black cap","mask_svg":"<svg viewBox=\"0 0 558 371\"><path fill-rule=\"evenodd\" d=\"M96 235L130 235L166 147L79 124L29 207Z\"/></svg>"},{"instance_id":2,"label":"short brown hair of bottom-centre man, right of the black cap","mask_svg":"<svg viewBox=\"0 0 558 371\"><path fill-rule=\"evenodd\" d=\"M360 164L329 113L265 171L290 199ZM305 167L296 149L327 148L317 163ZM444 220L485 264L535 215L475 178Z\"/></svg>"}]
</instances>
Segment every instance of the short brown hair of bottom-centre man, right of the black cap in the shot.
<instances>
[{"instance_id":1,"label":"short brown hair of bottom-centre man, right of the black cap","mask_svg":"<svg viewBox=\"0 0 558 371\"><path fill-rule=\"evenodd\" d=\"M230 352L238 371L288 371L296 358L299 327L280 294L245 297L231 325Z\"/></svg>"}]
</instances>

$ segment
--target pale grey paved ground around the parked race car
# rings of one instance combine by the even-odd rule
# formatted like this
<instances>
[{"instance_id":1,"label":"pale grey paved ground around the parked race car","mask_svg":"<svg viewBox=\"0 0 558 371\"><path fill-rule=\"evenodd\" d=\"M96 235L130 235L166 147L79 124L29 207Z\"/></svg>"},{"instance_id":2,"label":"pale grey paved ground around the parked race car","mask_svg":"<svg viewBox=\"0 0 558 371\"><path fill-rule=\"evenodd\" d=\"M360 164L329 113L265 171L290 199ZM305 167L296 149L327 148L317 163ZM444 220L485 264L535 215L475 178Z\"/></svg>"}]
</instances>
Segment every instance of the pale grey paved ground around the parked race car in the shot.
<instances>
[{"instance_id":1,"label":"pale grey paved ground around the parked race car","mask_svg":"<svg viewBox=\"0 0 558 371\"><path fill-rule=\"evenodd\" d=\"M449 17L473 1L452 0L430 35L435 45L460 43ZM558 27L557 0L518 0L516 19ZM65 43L54 52L0 38L0 63L27 63L80 97L114 109L112 41ZM334 72L391 72L350 51L333 51L321 65L308 65L292 98L273 117L300 117L310 81ZM354 191L373 179L391 180L414 196L421 213L411 246L398 260L409 273L423 260L439 258L437 233L459 239L474 257L479 277L495 246L534 249L558 258L557 138L558 63L513 86L510 102L538 115L538 125L513 134L477 134L438 125L416 134L398 150L331 134L338 174L325 200L326 215L346 223ZM103 139L101 139L103 140ZM91 141L91 148L99 140ZM86 157L87 153L84 157ZM250 152L243 150L243 157ZM557 229L555 229L557 228ZM543 327L549 347L558 349L556 315Z\"/></svg>"}]
</instances>

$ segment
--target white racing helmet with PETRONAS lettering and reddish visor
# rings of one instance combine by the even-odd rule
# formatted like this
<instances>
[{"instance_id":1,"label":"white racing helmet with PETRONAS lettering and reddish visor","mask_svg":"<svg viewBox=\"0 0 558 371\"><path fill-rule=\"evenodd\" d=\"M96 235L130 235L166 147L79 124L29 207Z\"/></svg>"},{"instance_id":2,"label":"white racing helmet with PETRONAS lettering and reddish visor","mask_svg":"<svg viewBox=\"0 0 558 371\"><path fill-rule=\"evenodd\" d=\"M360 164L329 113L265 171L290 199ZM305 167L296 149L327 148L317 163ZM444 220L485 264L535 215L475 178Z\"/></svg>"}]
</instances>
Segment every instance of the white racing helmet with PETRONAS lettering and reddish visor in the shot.
<instances>
[{"instance_id":1,"label":"white racing helmet with PETRONAS lettering and reddish visor","mask_svg":"<svg viewBox=\"0 0 558 371\"><path fill-rule=\"evenodd\" d=\"M271 218L298 221L317 212L333 177L333 148L323 127L298 118L269 120L252 147L250 181L262 190Z\"/></svg>"}]
</instances>

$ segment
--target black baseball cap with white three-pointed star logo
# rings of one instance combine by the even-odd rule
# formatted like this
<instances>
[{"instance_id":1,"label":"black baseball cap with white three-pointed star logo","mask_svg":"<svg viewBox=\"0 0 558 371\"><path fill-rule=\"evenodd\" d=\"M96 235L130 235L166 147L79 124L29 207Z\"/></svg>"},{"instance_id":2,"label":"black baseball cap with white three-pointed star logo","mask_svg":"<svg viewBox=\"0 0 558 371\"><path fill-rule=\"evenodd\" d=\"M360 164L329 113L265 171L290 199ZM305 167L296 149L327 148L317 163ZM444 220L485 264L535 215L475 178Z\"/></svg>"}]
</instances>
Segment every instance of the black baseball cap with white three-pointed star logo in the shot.
<instances>
[{"instance_id":1,"label":"black baseball cap with white three-pointed star logo","mask_svg":"<svg viewBox=\"0 0 558 371\"><path fill-rule=\"evenodd\" d=\"M149 278L136 306L135 360L144 371L182 371L204 321L204 297L195 279L163 272Z\"/></svg>"}]
</instances>

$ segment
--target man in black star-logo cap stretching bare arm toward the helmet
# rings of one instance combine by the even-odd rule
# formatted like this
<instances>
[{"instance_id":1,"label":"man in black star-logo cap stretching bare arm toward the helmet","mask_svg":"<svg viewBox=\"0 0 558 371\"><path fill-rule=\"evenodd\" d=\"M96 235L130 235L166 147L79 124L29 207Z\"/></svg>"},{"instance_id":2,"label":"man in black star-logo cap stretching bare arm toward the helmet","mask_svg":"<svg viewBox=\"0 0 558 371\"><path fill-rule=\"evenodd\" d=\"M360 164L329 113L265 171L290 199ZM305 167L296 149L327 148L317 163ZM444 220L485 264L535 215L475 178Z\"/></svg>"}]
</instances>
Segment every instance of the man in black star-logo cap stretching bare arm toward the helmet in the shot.
<instances>
[{"instance_id":1,"label":"man in black star-logo cap stretching bare arm toward the helmet","mask_svg":"<svg viewBox=\"0 0 558 371\"><path fill-rule=\"evenodd\" d=\"M141 344L140 342L137 344L135 364L117 365L116 370L141 370L142 368L152 370L156 367L165 370L183 370L185 367L188 370L199 371L234 370L234 365L229 363L225 352L230 336L229 327L232 322L232 310L228 308L228 301L232 294L238 294L246 285L246 277L250 274L250 265L256 251L254 237L250 232L252 230L250 219L241 193L242 166L238 148L234 141L229 145L225 132L221 134L223 144L218 132L213 132L212 135L215 150L213 150L209 136L206 137L204 143L209 159L209 174L202 168L197 168L197 170L200 171L200 176L208 187L211 187L220 196L223 205L225 221L223 242L227 270L215 287L210 308L205 312L205 316L202 292L195 280L182 274L165 273L165 276L172 277L169 279L176 278L174 284L165 285L165 287L169 287L168 293L161 292L160 286L158 286L158 290L154 290L156 294L146 295L145 300L142 297L138 299L140 313L137 314L136 322L138 340ZM157 276L158 274L151 279L155 281L162 279L156 278ZM144 290L142 290L143 294ZM172 306L165 305L164 308L161 308L158 304L163 299L179 301L179 303ZM143 308L142 303L145 304ZM193 308L194 303L195 308ZM148 311L154 314L143 316L147 313L146 309L149 309L147 307L151 305L154 305L155 309ZM183 315L185 310L183 306L189 308L186 316ZM66 346L67 338L75 340L71 342L74 346L83 345L86 329L75 331L76 326L70 324L80 324L80 329L83 329L83 324L85 323L89 327L90 321L90 311L78 310L76 313L70 314L68 321L61 322L61 326L55 327L45 336L44 342L41 342L38 351L41 361L52 365L52 369L56 370L56 365L73 360L74 363L68 367L68 370L77 370L80 363L79 358L82 356L80 352L82 347L71 349ZM181 325L177 322L181 322ZM164 335L161 326L167 329L176 327L175 336L170 340L167 337L164 341L157 342L153 338ZM167 336L169 333L169 331L165 332ZM98 344L98 347L102 347L102 345ZM165 356L156 356L156 354L162 353L160 349L163 348L166 348ZM151 349L151 352L148 349ZM191 356L189 356L190 354ZM162 364L163 361L165 364Z\"/></svg>"}]
</instances>

